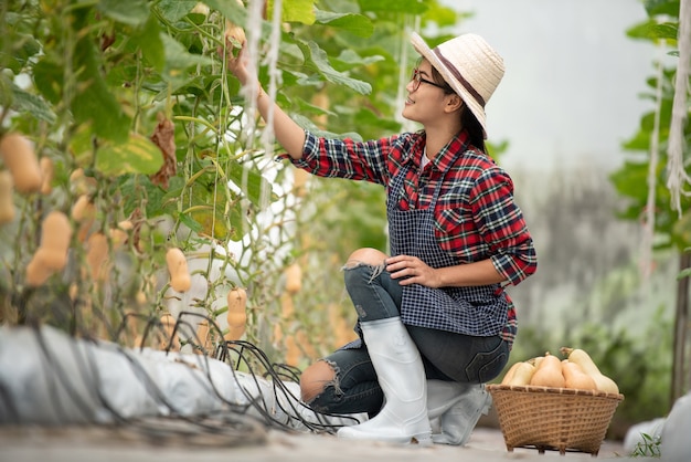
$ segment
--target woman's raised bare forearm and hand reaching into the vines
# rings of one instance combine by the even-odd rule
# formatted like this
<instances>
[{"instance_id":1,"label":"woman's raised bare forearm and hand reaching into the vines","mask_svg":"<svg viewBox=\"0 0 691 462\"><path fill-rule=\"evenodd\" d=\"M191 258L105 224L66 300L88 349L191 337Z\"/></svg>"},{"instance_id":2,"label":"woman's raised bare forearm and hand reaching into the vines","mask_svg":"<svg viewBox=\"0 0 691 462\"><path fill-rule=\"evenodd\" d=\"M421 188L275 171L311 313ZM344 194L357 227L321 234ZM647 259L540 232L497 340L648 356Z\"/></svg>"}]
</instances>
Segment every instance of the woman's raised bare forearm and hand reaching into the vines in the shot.
<instances>
[{"instance_id":1,"label":"woman's raised bare forearm and hand reaching into the vines","mask_svg":"<svg viewBox=\"0 0 691 462\"><path fill-rule=\"evenodd\" d=\"M257 85L257 109L264 120L268 120L268 113L274 113L274 134L278 143L286 149L288 155L294 159L302 157L302 146L305 146L305 130L296 124L276 103L268 97L262 88L259 82L247 82L249 73L247 71L247 56L245 55L246 46L243 48L237 56L226 55L227 69L237 77L243 86ZM272 109L273 106L273 109Z\"/></svg>"}]
</instances>

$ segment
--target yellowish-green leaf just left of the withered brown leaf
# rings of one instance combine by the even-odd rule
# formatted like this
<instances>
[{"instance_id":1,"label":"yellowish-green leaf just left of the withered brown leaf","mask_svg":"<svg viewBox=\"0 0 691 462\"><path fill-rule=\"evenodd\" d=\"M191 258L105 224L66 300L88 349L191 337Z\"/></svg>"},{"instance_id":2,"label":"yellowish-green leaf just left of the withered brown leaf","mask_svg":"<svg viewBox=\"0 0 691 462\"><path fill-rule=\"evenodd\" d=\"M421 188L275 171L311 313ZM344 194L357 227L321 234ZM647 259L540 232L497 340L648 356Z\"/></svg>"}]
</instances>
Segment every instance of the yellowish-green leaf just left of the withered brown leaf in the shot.
<instances>
[{"instance_id":1,"label":"yellowish-green leaf just left of the withered brown leaf","mask_svg":"<svg viewBox=\"0 0 691 462\"><path fill-rule=\"evenodd\" d=\"M156 174L163 164L160 149L149 138L130 134L127 143L106 144L96 153L96 168L104 175Z\"/></svg>"}]
</instances>

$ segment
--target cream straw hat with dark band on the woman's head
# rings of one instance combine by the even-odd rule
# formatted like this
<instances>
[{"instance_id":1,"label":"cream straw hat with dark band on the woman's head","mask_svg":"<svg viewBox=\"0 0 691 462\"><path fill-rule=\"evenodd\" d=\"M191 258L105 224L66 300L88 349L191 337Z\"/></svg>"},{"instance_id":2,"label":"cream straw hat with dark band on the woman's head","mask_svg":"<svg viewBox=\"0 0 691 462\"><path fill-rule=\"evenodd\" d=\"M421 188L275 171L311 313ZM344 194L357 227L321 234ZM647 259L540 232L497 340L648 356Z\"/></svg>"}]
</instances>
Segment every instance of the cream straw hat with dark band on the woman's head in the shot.
<instances>
[{"instance_id":1,"label":"cream straw hat with dark band on the woman's head","mask_svg":"<svg viewBox=\"0 0 691 462\"><path fill-rule=\"evenodd\" d=\"M463 98L482 126L487 138L485 105L503 76L503 60L479 35L467 33L434 49L413 32L411 42Z\"/></svg>"}]
</instances>

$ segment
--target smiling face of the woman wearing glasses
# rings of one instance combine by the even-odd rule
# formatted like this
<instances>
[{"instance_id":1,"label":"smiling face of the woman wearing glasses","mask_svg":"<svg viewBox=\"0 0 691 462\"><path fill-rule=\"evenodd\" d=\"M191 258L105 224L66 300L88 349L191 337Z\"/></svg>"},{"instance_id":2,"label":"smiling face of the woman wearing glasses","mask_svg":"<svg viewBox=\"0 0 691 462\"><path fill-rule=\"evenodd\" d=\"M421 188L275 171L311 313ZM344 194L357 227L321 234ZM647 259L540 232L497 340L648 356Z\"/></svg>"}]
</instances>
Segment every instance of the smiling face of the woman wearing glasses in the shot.
<instances>
[{"instance_id":1,"label":"smiling face of the woman wearing glasses","mask_svg":"<svg viewBox=\"0 0 691 462\"><path fill-rule=\"evenodd\" d=\"M408 97L405 99L403 117L426 125L436 120L443 113L446 94L432 77L432 64L422 60L413 71L411 81L405 86Z\"/></svg>"}]
</instances>

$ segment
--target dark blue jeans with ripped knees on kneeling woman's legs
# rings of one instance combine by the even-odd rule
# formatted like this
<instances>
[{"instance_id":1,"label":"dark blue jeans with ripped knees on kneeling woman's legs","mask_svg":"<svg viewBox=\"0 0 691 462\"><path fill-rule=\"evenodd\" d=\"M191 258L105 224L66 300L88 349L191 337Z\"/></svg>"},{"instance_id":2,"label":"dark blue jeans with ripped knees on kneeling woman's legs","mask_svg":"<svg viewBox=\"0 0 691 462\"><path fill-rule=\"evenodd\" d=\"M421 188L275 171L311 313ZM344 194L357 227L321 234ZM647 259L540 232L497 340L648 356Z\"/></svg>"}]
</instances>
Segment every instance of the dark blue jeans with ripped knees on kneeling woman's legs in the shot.
<instances>
[{"instance_id":1,"label":"dark blue jeans with ripped knees on kneeling woman's legs","mask_svg":"<svg viewBox=\"0 0 691 462\"><path fill-rule=\"evenodd\" d=\"M384 265L346 266L346 288L360 322L400 315L403 291ZM474 337L406 325L417 346L427 379L483 384L497 377L509 360L509 344L499 336ZM381 409L384 395L366 346L346 347L323 358L336 371L309 406L327 413L368 412Z\"/></svg>"}]
</instances>

